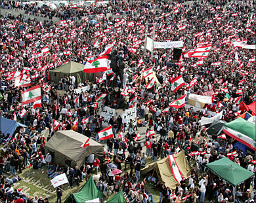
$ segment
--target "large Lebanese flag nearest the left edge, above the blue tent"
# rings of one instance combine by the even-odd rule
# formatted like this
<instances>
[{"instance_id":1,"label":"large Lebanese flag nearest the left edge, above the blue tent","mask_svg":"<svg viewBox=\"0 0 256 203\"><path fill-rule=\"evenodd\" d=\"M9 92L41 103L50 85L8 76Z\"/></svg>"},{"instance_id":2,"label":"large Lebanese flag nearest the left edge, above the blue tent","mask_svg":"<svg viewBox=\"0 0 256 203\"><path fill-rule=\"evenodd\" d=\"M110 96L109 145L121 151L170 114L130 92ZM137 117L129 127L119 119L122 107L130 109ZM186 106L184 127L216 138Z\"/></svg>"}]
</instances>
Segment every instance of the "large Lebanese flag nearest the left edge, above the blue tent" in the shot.
<instances>
[{"instance_id":1,"label":"large Lebanese flag nearest the left edge, above the blue tent","mask_svg":"<svg viewBox=\"0 0 256 203\"><path fill-rule=\"evenodd\" d=\"M21 96L22 96L22 105L41 100L40 84L38 84L37 86L33 86L28 90L25 90L24 92L22 92Z\"/></svg>"}]
</instances>

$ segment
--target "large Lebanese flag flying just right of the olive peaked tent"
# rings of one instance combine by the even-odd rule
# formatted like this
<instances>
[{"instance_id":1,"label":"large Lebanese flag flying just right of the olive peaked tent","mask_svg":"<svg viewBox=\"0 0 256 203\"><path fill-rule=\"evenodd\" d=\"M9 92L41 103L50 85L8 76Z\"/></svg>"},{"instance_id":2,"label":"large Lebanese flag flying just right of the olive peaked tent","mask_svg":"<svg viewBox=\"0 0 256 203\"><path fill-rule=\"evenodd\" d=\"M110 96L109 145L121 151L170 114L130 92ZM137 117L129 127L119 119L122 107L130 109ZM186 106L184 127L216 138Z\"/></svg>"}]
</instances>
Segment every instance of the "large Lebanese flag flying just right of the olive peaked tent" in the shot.
<instances>
[{"instance_id":1,"label":"large Lebanese flag flying just right of the olive peaked tent","mask_svg":"<svg viewBox=\"0 0 256 203\"><path fill-rule=\"evenodd\" d=\"M85 69L83 69L83 72L98 73L98 72L104 72L107 69L108 69L108 56L101 56L96 58L95 60L89 60L85 64Z\"/></svg>"}]
</instances>

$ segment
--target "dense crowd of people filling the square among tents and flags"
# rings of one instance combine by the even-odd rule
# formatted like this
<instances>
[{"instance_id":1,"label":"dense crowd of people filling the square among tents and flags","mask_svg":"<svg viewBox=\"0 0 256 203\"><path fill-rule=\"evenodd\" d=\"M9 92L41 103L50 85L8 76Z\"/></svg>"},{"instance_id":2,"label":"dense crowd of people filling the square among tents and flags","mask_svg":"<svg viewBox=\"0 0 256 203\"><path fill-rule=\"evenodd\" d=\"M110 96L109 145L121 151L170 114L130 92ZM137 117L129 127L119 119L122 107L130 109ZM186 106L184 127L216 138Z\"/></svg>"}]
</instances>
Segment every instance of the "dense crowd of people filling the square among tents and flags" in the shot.
<instances>
[{"instance_id":1,"label":"dense crowd of people filling the square among tents and flags","mask_svg":"<svg viewBox=\"0 0 256 203\"><path fill-rule=\"evenodd\" d=\"M164 203L255 201L254 176L238 185L234 196L231 185L205 168L205 164L225 156L255 173L255 151L234 148L235 139L209 135L201 125L202 117L221 111L221 120L230 122L244 113L241 100L245 105L256 100L255 49L234 46L234 42L256 45L254 1L128 0L109 1L106 6L62 5L56 10L16 1L1 0L0 4L29 14L16 18L4 14L0 18L1 117L28 126L18 128L13 136L0 132L1 200L48 202L47 198L31 198L13 188L13 183L20 181L17 174L31 164L34 170L47 168L51 179L66 173L70 187L93 175L105 198L122 189L127 202L154 202L156 197L146 187L148 182ZM110 13L113 16L107 18ZM49 20L40 22L30 14ZM53 16L60 22L52 22ZM144 50L146 35L161 42L183 41L179 60L173 57L173 48L154 49L152 53ZM211 47L207 57L190 55L189 51L205 46ZM117 75L113 80L110 69L95 81L77 82L68 74L60 81L50 80L50 70L68 62L85 65L109 49L117 50L125 60L123 81ZM150 79L145 77L145 70L150 68L156 77L152 88L147 88ZM173 92L171 81L179 75L186 84ZM41 86L40 107L33 103L22 107L22 92L29 87L20 85L17 77L30 86ZM85 87L87 90L75 92ZM58 95L57 90L65 90L65 94ZM211 96L212 103L201 110L169 107L184 94L188 104L189 94L198 92ZM102 94L107 96L96 100ZM123 110L135 106L136 124L121 115L108 118L114 138L106 141L104 158L91 154L81 167L74 168L53 164L51 154L45 153L45 143L54 132L74 130L99 141L98 132L106 127L102 124L106 118L100 116L105 106ZM251 109L248 112L253 114ZM89 122L83 122L86 118ZM57 129L53 128L54 120L60 122ZM135 141L138 130L145 126L146 133L154 130L156 135ZM45 129L49 129L49 136L44 136ZM120 139L119 132L125 140ZM140 177L140 170L151 157L154 162L161 160L175 154L178 146L192 168L188 179L169 188L154 174ZM227 156L233 151L236 155ZM200 153L192 156L192 152ZM113 166L123 174L112 174ZM11 177L7 177L9 173ZM57 187L56 196L61 202L62 187Z\"/></svg>"}]
</instances>

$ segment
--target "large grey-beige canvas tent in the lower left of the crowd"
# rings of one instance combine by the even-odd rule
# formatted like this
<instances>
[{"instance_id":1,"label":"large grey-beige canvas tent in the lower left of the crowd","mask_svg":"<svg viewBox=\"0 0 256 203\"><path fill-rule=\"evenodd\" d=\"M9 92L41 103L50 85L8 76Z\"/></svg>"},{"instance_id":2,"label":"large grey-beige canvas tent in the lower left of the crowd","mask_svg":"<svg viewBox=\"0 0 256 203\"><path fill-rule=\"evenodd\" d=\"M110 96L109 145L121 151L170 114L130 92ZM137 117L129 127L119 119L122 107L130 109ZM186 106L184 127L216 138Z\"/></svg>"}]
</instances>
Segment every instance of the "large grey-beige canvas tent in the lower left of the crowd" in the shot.
<instances>
[{"instance_id":1,"label":"large grey-beige canvas tent in the lower left of the crowd","mask_svg":"<svg viewBox=\"0 0 256 203\"><path fill-rule=\"evenodd\" d=\"M51 153L53 162L64 166L78 166L85 162L91 153L95 157L103 157L103 145L90 139L89 147L80 147L88 138L73 130L57 131L45 145L46 153Z\"/></svg>"}]
</instances>

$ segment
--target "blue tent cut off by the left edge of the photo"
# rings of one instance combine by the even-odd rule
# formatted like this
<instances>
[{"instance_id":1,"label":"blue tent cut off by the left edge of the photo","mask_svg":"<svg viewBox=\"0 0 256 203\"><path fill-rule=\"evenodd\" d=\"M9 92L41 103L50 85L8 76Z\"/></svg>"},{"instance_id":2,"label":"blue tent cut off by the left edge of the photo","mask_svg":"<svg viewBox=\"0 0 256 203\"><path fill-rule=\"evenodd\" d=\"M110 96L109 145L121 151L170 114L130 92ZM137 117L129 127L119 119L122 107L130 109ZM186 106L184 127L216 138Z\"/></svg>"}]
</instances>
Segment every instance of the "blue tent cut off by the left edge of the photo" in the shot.
<instances>
[{"instance_id":1,"label":"blue tent cut off by the left edge of the photo","mask_svg":"<svg viewBox=\"0 0 256 203\"><path fill-rule=\"evenodd\" d=\"M16 120L7 119L5 117L0 117L0 131L3 134L10 134L12 136L17 127L28 127Z\"/></svg>"}]
</instances>

